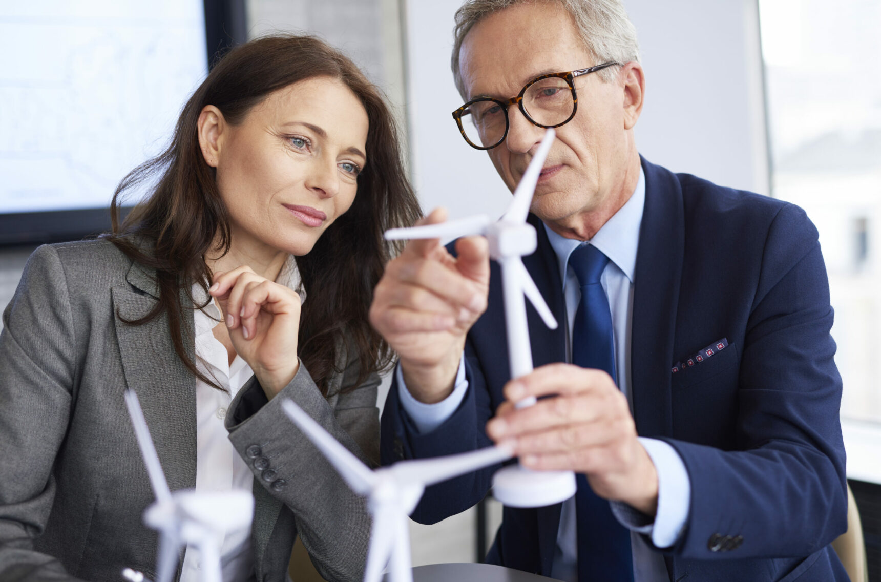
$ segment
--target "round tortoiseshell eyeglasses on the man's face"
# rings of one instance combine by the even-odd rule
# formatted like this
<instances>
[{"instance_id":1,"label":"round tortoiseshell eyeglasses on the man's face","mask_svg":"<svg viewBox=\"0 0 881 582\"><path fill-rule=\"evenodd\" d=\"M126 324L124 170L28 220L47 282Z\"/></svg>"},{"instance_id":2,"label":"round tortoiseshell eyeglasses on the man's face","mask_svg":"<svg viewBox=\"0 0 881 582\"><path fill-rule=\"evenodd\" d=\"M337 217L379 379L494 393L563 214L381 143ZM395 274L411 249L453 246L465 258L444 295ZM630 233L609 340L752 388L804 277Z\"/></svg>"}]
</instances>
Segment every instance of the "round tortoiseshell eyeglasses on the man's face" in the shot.
<instances>
[{"instance_id":1,"label":"round tortoiseshell eyeglasses on the man's face","mask_svg":"<svg viewBox=\"0 0 881 582\"><path fill-rule=\"evenodd\" d=\"M453 112L453 119L468 145L478 150L489 150L507 138L510 126L507 109L515 103L523 116L538 127L559 127L575 116L578 95L573 79L600 71L613 64L603 63L578 71L540 75L523 86L511 99L476 97Z\"/></svg>"}]
</instances>

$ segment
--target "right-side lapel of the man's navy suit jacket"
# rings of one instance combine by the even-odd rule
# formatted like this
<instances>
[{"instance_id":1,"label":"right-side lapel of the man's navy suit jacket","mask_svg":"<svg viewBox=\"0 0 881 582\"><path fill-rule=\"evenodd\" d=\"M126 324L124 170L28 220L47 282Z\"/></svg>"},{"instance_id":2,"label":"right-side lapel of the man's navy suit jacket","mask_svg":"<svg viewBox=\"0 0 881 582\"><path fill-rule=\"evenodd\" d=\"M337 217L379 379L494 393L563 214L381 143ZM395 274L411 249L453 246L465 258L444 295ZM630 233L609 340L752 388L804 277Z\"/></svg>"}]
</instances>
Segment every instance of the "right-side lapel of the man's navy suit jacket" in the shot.
<instances>
[{"instance_id":1,"label":"right-side lapel of the man's navy suit jacket","mask_svg":"<svg viewBox=\"0 0 881 582\"><path fill-rule=\"evenodd\" d=\"M672 437L670 367L685 247L685 211L676 175L645 159L642 168L646 205L633 280L633 419L642 437Z\"/></svg>"}]
</instances>

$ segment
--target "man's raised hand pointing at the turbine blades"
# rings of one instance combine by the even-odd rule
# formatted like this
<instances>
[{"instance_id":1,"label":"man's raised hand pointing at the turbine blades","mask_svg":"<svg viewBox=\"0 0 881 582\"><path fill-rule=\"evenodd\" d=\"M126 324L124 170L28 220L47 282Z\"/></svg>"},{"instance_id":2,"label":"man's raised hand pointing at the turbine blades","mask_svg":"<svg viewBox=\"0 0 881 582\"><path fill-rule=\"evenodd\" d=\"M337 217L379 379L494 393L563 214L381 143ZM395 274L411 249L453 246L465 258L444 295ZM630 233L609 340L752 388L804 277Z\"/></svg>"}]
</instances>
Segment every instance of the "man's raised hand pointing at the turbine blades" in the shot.
<instances>
[{"instance_id":1,"label":"man's raised hand pointing at the turbine blades","mask_svg":"<svg viewBox=\"0 0 881 582\"><path fill-rule=\"evenodd\" d=\"M418 224L446 218L439 209ZM407 389L422 402L440 402L452 392L465 335L486 310L486 239L461 238L455 250L458 257L439 239L408 243L387 265L370 307L370 323L400 356Z\"/></svg>"}]
</instances>

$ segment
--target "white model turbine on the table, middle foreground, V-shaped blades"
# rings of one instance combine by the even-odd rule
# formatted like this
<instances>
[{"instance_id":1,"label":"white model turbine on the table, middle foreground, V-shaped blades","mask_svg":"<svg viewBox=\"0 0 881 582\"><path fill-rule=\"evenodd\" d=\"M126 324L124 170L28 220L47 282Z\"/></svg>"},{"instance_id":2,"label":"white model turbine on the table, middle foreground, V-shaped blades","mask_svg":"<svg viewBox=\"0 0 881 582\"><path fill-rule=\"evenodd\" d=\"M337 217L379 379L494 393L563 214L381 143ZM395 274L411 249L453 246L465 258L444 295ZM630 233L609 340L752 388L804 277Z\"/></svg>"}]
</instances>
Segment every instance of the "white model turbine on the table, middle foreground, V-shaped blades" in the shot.
<instances>
[{"instance_id":1,"label":"white model turbine on the table, middle foreground, V-shaped blades","mask_svg":"<svg viewBox=\"0 0 881 582\"><path fill-rule=\"evenodd\" d=\"M512 451L492 446L435 459L403 460L371 471L291 400L285 400L282 407L349 487L367 498L367 512L373 516L374 526L370 532L364 582L380 582L386 564L390 564L391 582L412 582L409 516L426 486L513 456Z\"/></svg>"}]
</instances>

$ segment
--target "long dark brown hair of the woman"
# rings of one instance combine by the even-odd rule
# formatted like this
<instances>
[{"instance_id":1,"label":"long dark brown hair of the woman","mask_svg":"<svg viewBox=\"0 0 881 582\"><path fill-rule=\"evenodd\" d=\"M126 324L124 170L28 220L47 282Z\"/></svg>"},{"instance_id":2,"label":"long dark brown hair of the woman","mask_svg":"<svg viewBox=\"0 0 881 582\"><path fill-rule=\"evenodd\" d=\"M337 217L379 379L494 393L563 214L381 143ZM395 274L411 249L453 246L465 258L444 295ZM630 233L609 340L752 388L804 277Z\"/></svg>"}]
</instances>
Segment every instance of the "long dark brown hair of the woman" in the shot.
<instances>
[{"instance_id":1,"label":"long dark brown hair of the woman","mask_svg":"<svg viewBox=\"0 0 881 582\"><path fill-rule=\"evenodd\" d=\"M308 298L300 317L299 355L325 394L330 377L342 371L336 369L340 349L355 350L347 360L359 358L358 384L391 362L389 345L367 317L374 287L393 250L382 232L411 225L420 214L403 168L396 125L381 93L335 48L312 36L267 36L223 56L184 106L167 150L122 179L111 203L113 230L106 235L134 261L154 269L159 283L155 308L127 323L143 325L166 314L181 360L196 377L218 388L187 354L181 326L186 309L182 297L192 302L192 285L207 287L211 280L203 257L217 250L212 248L215 236L223 253L231 243L229 215L215 170L199 147L196 122L202 109L213 105L228 123L241 123L270 93L315 77L335 78L349 87L366 109L369 129L367 162L352 207L306 256L296 257ZM153 176L158 182L152 193L121 223L124 196Z\"/></svg>"}]
</instances>

